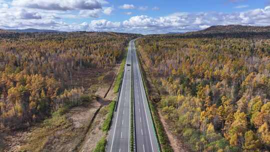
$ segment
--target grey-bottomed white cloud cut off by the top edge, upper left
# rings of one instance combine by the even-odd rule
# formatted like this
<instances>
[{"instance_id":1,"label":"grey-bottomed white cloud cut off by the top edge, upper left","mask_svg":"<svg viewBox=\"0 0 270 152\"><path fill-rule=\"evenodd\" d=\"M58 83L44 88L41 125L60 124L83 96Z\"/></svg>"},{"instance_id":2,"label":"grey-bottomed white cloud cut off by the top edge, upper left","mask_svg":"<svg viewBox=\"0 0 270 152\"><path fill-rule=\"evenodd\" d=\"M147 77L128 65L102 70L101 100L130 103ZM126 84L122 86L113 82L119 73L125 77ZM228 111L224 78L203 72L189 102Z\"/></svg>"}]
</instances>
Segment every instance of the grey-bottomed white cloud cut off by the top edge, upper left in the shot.
<instances>
[{"instance_id":1,"label":"grey-bottomed white cloud cut off by the top edge, upper left","mask_svg":"<svg viewBox=\"0 0 270 152\"><path fill-rule=\"evenodd\" d=\"M39 8L46 10L98 9L97 0L13 0L13 6Z\"/></svg>"}]
</instances>

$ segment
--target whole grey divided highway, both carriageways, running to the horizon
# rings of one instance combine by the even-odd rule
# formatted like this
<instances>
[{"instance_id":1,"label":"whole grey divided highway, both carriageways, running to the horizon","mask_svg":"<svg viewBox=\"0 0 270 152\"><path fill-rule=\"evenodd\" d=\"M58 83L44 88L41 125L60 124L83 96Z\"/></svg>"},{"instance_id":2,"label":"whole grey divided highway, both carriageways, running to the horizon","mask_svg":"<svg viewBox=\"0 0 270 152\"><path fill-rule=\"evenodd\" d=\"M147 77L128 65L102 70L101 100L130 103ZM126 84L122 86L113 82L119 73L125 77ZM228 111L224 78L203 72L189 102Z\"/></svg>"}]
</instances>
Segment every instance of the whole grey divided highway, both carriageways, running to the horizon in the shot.
<instances>
[{"instance_id":1,"label":"whole grey divided highway, both carriageways, running to the horizon","mask_svg":"<svg viewBox=\"0 0 270 152\"><path fill-rule=\"evenodd\" d=\"M139 63L136 56L135 39L129 42L123 81L116 111L106 145L107 152L130 151L130 104L131 104L131 70L133 70L134 115L135 115L135 148L138 152L157 152L158 143L154 133L150 109L143 87ZM131 63L132 62L132 63ZM127 66L132 64L132 66Z\"/></svg>"}]
</instances>

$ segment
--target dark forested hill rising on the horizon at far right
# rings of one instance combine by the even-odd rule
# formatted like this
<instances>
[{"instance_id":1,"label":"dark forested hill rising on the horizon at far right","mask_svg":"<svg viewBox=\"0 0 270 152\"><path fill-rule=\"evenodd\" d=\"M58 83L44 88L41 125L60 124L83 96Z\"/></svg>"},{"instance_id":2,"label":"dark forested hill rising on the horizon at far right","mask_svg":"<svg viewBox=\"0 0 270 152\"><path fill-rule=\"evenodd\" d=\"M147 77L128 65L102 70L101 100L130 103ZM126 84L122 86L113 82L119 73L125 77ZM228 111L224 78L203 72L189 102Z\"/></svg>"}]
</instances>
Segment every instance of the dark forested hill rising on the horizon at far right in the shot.
<instances>
[{"instance_id":1,"label":"dark forested hill rising on the horizon at far right","mask_svg":"<svg viewBox=\"0 0 270 152\"><path fill-rule=\"evenodd\" d=\"M216 25L206 29L188 33L237 33L237 32L270 32L270 26L246 26L246 25Z\"/></svg>"}]
</instances>

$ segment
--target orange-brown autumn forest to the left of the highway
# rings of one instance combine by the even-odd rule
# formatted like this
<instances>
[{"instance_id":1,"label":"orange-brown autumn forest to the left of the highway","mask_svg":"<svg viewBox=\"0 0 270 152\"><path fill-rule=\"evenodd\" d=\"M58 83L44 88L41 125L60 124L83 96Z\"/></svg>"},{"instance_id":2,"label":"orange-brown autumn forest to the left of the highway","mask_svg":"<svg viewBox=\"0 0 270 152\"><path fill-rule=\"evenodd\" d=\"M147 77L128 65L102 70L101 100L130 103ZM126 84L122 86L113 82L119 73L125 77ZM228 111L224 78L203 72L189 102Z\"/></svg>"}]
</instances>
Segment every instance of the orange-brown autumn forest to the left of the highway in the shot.
<instances>
[{"instance_id":1,"label":"orange-brown autumn forest to the left of the highway","mask_svg":"<svg viewBox=\"0 0 270 152\"><path fill-rule=\"evenodd\" d=\"M90 92L81 85L83 73L111 70L136 36L0 32L0 129L28 127L59 108L89 99Z\"/></svg>"}]
</instances>

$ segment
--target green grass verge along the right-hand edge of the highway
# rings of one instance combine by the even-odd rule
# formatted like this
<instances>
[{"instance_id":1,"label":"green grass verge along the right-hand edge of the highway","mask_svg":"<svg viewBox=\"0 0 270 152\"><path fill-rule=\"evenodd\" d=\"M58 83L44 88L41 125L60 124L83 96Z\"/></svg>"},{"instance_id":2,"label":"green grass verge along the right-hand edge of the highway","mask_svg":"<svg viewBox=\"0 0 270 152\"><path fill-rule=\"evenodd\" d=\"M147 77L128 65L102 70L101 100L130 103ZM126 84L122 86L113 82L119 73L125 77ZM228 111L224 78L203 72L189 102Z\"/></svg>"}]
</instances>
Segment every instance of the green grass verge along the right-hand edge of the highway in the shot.
<instances>
[{"instance_id":1,"label":"green grass verge along the right-hand edge of the highway","mask_svg":"<svg viewBox=\"0 0 270 152\"><path fill-rule=\"evenodd\" d=\"M147 78L146 78L146 74L145 74L145 71L142 67L142 64L141 64L141 61L140 61L140 58L139 58L139 55L137 55L137 58L138 58L138 61L139 61L139 67L140 67L140 71L141 71L141 74L142 74L142 81L143 81L143 85L144 85L144 88L145 88L145 93L146 93L146 96L147 96L147 101L148 101L148 105L150 107L150 111L151 111L151 115L152 115L152 118L153 118L153 122L154 122L154 128L155 128L155 132L157 134L157 139L158 139L158 142L159 142L159 145L161 147L161 151L162 152L173 152L173 149L171 148L170 144L169 144L169 140L168 140L168 136L165 132L165 129L159 119L159 115L158 115L158 112L157 112L157 108L156 108L156 105L155 103L153 103L150 99L149 99L149 94L148 94L148 87L149 85L148 84L148 81L147 81Z\"/></svg>"}]
</instances>

